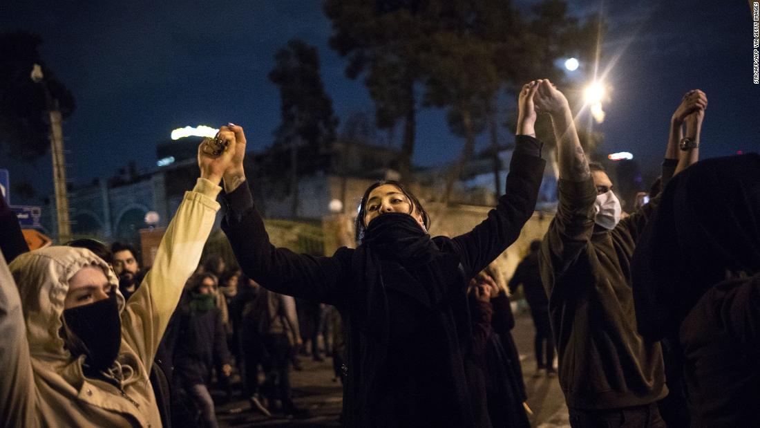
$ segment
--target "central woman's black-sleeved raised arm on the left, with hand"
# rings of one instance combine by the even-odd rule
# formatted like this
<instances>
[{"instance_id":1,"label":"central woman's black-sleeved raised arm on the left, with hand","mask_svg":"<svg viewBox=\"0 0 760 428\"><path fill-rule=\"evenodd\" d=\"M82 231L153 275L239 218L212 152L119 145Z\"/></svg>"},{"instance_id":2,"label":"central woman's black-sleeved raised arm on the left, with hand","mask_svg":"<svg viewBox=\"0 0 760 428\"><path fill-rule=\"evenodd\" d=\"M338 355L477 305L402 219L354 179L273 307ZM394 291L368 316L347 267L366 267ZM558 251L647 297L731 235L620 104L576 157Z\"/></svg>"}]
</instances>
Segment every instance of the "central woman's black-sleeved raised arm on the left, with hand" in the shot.
<instances>
[{"instance_id":1,"label":"central woman's black-sleeved raised arm on the left, with hand","mask_svg":"<svg viewBox=\"0 0 760 428\"><path fill-rule=\"evenodd\" d=\"M275 293L339 305L343 293L338 287L345 284L352 250L339 249L333 257L314 257L273 246L245 180L243 129L236 125L230 128L236 135L236 151L223 177L226 214L222 230L230 239L240 267Z\"/></svg>"}]
</instances>

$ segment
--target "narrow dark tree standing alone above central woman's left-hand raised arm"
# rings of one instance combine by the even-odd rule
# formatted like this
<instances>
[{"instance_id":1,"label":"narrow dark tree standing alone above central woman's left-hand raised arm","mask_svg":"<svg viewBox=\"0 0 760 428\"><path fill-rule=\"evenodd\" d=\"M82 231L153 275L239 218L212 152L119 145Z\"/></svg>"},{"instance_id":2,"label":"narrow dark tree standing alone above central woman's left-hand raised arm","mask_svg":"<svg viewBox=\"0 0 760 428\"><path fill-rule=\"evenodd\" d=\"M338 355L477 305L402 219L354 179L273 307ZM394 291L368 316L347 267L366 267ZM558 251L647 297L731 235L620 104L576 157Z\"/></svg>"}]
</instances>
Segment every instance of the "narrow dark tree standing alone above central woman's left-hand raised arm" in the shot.
<instances>
[{"instance_id":1,"label":"narrow dark tree standing alone above central woman's left-hand raised arm","mask_svg":"<svg viewBox=\"0 0 760 428\"><path fill-rule=\"evenodd\" d=\"M269 79L280 87L282 122L274 144L290 150L291 214L298 215L298 151L321 154L335 139L337 117L319 72L317 49L293 39L274 55ZM303 147L303 148L301 148Z\"/></svg>"}]
</instances>

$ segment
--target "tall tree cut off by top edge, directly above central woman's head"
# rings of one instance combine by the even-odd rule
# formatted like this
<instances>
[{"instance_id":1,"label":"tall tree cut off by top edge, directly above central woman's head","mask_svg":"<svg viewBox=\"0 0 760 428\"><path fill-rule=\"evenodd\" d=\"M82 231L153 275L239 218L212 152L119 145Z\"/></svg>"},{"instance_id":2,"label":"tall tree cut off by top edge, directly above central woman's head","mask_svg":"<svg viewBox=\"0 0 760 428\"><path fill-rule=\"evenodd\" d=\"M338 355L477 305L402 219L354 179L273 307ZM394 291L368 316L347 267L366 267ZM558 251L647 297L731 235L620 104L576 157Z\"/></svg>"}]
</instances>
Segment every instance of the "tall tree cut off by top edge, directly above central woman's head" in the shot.
<instances>
[{"instance_id":1,"label":"tall tree cut off by top edge, directly above central woman's head","mask_svg":"<svg viewBox=\"0 0 760 428\"><path fill-rule=\"evenodd\" d=\"M326 0L332 21L330 46L346 56L346 75L365 75L379 128L403 122L399 173L408 177L414 152L417 97L423 75L420 52L432 33L437 2L419 0Z\"/></svg>"}]
</instances>

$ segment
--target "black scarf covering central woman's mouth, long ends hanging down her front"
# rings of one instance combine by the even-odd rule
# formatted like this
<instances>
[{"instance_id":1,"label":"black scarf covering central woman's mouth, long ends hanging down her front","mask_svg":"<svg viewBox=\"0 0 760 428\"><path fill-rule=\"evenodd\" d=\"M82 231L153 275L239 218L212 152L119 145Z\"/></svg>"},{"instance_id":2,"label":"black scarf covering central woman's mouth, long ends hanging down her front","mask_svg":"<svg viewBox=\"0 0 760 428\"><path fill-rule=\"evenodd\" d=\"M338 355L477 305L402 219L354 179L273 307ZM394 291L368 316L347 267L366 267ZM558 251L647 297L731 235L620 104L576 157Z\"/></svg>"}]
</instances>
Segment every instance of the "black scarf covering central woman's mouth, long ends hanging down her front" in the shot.
<instances>
[{"instance_id":1,"label":"black scarf covering central woman's mouth, long ends hanging down her front","mask_svg":"<svg viewBox=\"0 0 760 428\"><path fill-rule=\"evenodd\" d=\"M354 252L352 272L356 283L354 305L357 308L354 322L360 337L358 373L362 373L363 385L356 391L356 399L364 409L375 406L366 392L375 390L375 385L383 382L381 367L388 356L390 310L387 289L412 296L411 290L404 290L410 284L397 284L398 275L382 271L384 262L392 260L403 267L414 281L422 285L423 296L416 294L416 300L439 313L442 320L447 347L441 358L448 366L445 375L451 382L451 396L455 404L451 412L470 418L467 402L467 388L464 376L461 349L471 336L469 313L458 314L458 309L467 311L465 278L455 255L441 252L420 224L409 214L388 213L375 217L369 224L361 245ZM416 286L416 284L415 284ZM412 287L409 287L412 288ZM461 303L461 304L459 304ZM463 322L456 322L461 319ZM451 326L453 328L446 328ZM354 404L352 404L353 406ZM461 416L460 415L460 416ZM456 422L454 425L467 426Z\"/></svg>"}]
</instances>

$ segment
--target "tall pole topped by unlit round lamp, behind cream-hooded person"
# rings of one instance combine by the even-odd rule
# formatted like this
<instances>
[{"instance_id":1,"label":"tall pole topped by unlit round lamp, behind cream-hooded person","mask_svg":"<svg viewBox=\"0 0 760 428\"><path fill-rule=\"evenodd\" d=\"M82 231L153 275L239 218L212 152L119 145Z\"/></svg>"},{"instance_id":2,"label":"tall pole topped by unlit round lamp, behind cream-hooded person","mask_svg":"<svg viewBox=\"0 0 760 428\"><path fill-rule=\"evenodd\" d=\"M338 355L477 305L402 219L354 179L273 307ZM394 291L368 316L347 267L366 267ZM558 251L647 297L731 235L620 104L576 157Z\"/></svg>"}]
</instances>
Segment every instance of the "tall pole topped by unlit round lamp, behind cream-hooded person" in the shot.
<instances>
[{"instance_id":1,"label":"tall pole topped by unlit round lamp, behind cream-hooded person","mask_svg":"<svg viewBox=\"0 0 760 428\"><path fill-rule=\"evenodd\" d=\"M63 118L58 100L48 90L40 65L35 64L32 81L41 83L45 90L46 106L50 118L50 154L52 155L52 179L55 189L55 212L58 214L58 241L66 243L71 239L71 223L68 219L68 194L66 192L66 161L63 152Z\"/></svg>"}]
</instances>

